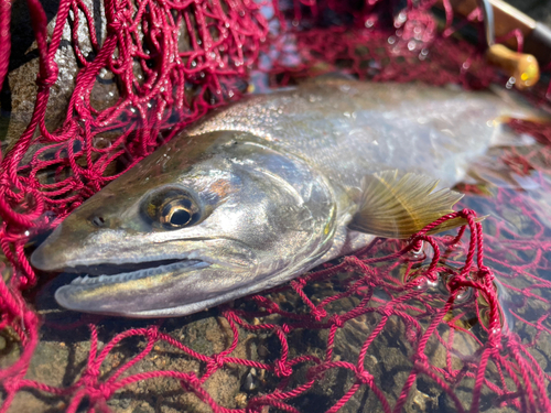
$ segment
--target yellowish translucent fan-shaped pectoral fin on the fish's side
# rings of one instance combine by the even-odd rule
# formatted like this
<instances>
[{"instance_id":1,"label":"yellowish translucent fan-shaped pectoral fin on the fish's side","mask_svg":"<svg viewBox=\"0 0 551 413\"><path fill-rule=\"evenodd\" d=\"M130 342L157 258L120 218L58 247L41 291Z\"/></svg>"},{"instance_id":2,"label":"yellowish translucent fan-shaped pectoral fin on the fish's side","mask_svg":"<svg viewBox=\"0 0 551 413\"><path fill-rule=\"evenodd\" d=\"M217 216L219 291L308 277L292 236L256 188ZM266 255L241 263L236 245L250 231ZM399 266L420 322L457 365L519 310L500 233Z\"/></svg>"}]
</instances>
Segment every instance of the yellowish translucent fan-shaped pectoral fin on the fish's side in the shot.
<instances>
[{"instance_id":1,"label":"yellowish translucent fan-shaped pectoral fin on the fish's side","mask_svg":"<svg viewBox=\"0 0 551 413\"><path fill-rule=\"evenodd\" d=\"M452 206L463 195L449 188L433 192L439 181L398 171L367 175L361 181L359 209L348 227L385 238L409 238L429 224L453 213ZM464 218L450 219L428 233L467 224Z\"/></svg>"}]
</instances>

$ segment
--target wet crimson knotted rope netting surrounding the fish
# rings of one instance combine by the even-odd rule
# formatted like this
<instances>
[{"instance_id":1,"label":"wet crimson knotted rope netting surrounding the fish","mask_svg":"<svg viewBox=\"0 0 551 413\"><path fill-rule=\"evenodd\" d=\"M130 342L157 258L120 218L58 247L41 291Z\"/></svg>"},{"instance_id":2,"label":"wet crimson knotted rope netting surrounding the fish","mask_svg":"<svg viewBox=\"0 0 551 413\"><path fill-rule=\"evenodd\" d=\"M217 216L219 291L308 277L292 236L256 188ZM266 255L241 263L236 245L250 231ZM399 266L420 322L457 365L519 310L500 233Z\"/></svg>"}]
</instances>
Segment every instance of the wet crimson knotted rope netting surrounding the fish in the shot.
<instances>
[{"instance_id":1,"label":"wet crimson knotted rope netting surrounding the fish","mask_svg":"<svg viewBox=\"0 0 551 413\"><path fill-rule=\"evenodd\" d=\"M261 89L341 70L505 84L482 48L454 37L464 22L452 25L449 7L439 30L434 3L61 0L48 24L29 0L35 105L3 146L0 175L0 412L551 411L551 128L527 121L511 127L540 146L494 161L536 189L477 197L487 189L464 185L473 196L463 206L491 216L482 225L471 209L456 213L468 220L456 236L378 240L270 292L163 323L35 309L48 300L46 275L28 261L36 237L238 99L244 80ZM2 80L11 8L0 2ZM66 116L47 130L48 98L64 81Z\"/></svg>"}]
</instances>

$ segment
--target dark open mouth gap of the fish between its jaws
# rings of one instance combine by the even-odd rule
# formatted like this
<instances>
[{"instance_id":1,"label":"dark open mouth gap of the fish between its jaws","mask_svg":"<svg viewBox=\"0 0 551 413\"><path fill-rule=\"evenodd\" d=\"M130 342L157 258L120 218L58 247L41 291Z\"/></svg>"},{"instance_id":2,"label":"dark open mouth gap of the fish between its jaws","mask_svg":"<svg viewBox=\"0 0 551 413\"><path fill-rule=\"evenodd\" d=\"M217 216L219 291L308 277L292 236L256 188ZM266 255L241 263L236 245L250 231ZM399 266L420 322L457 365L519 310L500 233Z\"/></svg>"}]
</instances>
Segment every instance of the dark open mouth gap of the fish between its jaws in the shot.
<instances>
[{"instance_id":1,"label":"dark open mouth gap of the fish between its jaws","mask_svg":"<svg viewBox=\"0 0 551 413\"><path fill-rule=\"evenodd\" d=\"M197 259L170 259L117 264L76 265L68 269L68 272L79 273L82 275L60 290L74 285L83 286L123 283L171 272L183 273L207 267L210 267L208 262ZM60 292L60 290L57 290L57 292Z\"/></svg>"}]
</instances>

